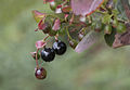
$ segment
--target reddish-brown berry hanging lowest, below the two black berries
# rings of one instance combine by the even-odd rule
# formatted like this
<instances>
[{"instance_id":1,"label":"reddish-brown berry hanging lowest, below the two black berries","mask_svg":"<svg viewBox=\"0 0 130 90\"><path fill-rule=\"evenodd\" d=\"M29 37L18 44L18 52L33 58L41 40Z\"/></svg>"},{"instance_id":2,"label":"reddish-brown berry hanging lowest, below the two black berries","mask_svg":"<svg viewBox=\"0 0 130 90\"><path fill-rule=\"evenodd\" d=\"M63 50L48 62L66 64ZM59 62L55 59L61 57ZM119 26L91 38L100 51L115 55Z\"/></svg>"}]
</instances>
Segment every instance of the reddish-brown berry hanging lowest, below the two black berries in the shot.
<instances>
[{"instance_id":1,"label":"reddish-brown berry hanging lowest, below the two black berries","mask_svg":"<svg viewBox=\"0 0 130 90\"><path fill-rule=\"evenodd\" d=\"M47 70L43 67L37 68L35 76L38 79L44 79L47 77Z\"/></svg>"}]
</instances>

